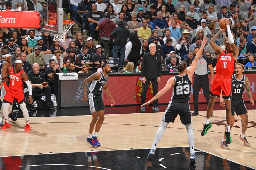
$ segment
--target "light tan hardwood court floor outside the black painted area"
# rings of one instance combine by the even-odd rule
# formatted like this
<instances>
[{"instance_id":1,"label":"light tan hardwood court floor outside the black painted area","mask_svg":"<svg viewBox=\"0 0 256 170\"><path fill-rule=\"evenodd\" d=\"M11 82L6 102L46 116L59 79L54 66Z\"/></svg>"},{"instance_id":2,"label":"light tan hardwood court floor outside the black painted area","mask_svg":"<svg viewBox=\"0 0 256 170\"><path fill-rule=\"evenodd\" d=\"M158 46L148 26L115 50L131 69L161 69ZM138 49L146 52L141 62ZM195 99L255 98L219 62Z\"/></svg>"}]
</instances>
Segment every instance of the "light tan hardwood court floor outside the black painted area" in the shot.
<instances>
[{"instance_id":1,"label":"light tan hardwood court floor outside the black painted area","mask_svg":"<svg viewBox=\"0 0 256 170\"><path fill-rule=\"evenodd\" d=\"M161 110L162 111L162 110ZM164 111L164 110L163 110ZM201 136L202 123L206 112L199 112L193 118L195 148L256 169L256 110L248 110L249 127L246 131L251 147L243 145L238 139L241 133L240 118L231 130L230 150L220 147L225 123L225 111L214 111L210 131ZM11 128L0 130L0 157L64 152L107 151L122 149L150 148L163 113L136 113L105 115L99 133L101 147L90 147L85 142L89 131L91 116L32 117L31 131L24 132L24 118L12 122ZM179 117L170 123L157 147L188 146L187 132ZM156 150L157 152L157 150Z\"/></svg>"}]
</instances>

